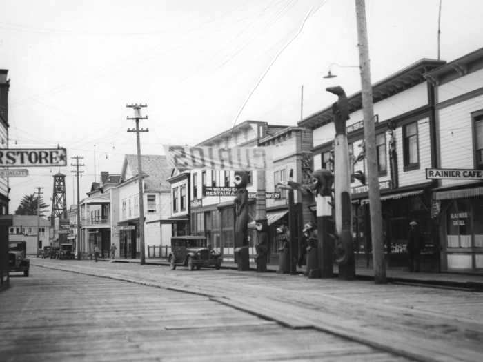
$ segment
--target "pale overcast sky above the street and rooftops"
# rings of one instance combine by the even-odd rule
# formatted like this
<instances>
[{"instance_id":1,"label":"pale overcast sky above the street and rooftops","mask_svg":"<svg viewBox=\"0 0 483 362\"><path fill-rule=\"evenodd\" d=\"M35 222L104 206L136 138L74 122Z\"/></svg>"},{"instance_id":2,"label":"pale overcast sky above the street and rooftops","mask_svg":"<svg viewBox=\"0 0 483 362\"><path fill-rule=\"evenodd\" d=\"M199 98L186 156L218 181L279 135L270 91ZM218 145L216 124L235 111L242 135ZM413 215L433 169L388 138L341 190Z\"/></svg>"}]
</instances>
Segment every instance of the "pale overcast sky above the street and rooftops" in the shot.
<instances>
[{"instance_id":1,"label":"pale overcast sky above the street and rooftops","mask_svg":"<svg viewBox=\"0 0 483 362\"><path fill-rule=\"evenodd\" d=\"M437 59L440 0L366 0L373 83ZM441 59L482 47L483 1L442 0ZM68 166L10 178L10 213L84 157L80 197L136 153L196 144L248 119L296 125L360 90L354 0L0 0L0 68L8 69L9 147L67 148ZM324 79L331 70L337 78ZM302 102L302 86L304 86Z\"/></svg>"}]
</instances>

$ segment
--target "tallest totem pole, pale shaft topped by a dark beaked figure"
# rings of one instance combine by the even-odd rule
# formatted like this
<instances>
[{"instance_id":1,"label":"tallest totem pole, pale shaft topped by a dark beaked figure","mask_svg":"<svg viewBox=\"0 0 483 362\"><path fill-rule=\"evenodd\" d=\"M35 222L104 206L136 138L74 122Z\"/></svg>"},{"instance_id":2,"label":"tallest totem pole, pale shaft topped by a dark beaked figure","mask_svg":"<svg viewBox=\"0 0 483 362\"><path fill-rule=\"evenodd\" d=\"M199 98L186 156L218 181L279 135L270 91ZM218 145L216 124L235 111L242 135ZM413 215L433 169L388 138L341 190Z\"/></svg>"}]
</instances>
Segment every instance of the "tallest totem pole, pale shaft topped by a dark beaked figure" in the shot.
<instances>
[{"instance_id":1,"label":"tallest totem pole, pale shaft topped by a dark beaked figure","mask_svg":"<svg viewBox=\"0 0 483 362\"><path fill-rule=\"evenodd\" d=\"M340 86L328 87L339 99L332 105L335 125L334 146L334 203L335 203L335 244L339 278L355 278L354 246L352 240L351 217L351 172L346 134L346 121L349 119L348 99Z\"/></svg>"}]
</instances>

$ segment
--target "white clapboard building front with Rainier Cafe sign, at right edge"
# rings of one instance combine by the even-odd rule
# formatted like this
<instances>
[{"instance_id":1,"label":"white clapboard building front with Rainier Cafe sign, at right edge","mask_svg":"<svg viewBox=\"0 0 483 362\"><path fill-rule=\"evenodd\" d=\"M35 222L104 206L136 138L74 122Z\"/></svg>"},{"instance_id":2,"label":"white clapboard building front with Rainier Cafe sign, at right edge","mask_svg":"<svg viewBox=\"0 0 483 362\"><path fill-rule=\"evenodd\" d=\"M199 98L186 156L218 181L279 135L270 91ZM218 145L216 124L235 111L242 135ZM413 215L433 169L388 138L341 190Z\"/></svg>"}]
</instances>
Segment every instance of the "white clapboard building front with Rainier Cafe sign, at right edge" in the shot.
<instances>
[{"instance_id":1,"label":"white clapboard building front with Rainier Cafe sign, at right edge","mask_svg":"<svg viewBox=\"0 0 483 362\"><path fill-rule=\"evenodd\" d=\"M483 271L483 48L425 74L435 87L437 163L428 178L441 269Z\"/></svg>"}]
</instances>

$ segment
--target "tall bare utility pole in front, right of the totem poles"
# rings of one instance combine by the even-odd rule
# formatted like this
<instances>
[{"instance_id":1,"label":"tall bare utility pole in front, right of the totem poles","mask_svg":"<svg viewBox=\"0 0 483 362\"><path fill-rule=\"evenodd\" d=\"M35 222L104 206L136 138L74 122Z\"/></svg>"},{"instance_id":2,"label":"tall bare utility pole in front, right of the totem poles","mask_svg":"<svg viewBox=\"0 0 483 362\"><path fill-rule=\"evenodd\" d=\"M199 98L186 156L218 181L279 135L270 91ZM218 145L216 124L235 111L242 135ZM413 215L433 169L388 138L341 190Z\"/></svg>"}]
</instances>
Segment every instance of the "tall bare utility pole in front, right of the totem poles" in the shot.
<instances>
[{"instance_id":1,"label":"tall bare utility pole in front, right of the totem poles","mask_svg":"<svg viewBox=\"0 0 483 362\"><path fill-rule=\"evenodd\" d=\"M364 0L355 0L357 17L357 39L359 39L359 63L361 67L362 108L364 114L364 142L369 186L369 212L371 214L371 239L373 243L374 281L386 283L386 264L382 241L381 192L377 172L375 147L375 124L373 89L371 85L371 65L367 40L366 5Z\"/></svg>"}]
</instances>

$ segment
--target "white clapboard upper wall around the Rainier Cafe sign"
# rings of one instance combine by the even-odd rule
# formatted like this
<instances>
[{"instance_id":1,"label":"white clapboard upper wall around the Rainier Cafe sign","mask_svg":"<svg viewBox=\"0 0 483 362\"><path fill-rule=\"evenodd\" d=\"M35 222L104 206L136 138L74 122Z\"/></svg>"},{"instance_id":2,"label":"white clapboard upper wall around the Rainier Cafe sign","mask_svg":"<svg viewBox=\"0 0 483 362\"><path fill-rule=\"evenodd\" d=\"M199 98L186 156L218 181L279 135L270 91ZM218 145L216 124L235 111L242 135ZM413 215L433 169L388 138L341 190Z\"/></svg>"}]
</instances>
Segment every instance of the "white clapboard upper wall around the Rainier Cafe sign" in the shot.
<instances>
[{"instance_id":1,"label":"white clapboard upper wall around the Rainier Cafe sign","mask_svg":"<svg viewBox=\"0 0 483 362\"><path fill-rule=\"evenodd\" d=\"M475 154L471 112L481 109L483 109L483 95L437 111L441 168L474 168ZM442 185L469 182L472 181L442 180Z\"/></svg>"}]
</instances>

